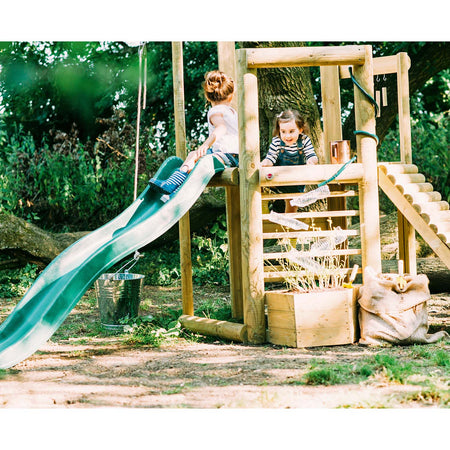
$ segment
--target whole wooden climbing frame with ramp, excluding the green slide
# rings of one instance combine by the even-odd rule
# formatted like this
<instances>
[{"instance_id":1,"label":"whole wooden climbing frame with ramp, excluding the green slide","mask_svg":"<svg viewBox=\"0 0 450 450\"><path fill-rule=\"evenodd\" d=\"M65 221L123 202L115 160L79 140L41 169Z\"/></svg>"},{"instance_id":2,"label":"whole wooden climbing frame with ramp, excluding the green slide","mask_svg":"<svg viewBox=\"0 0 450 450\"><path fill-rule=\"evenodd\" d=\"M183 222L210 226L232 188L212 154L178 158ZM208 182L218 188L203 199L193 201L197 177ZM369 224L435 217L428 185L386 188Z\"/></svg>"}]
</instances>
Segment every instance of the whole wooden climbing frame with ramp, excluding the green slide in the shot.
<instances>
[{"instance_id":1,"label":"whole wooden climbing frame with ramp, excluding the green slide","mask_svg":"<svg viewBox=\"0 0 450 450\"><path fill-rule=\"evenodd\" d=\"M186 155L181 43L173 43L174 98L177 155ZM360 248L343 245L333 254L343 258L336 269L348 276L349 261L359 255L359 272L370 266L381 272L379 226L380 187L398 209L399 259L405 272L416 274L415 231L420 233L436 255L450 268L450 211L433 186L412 164L406 53L373 58L371 46L299 47L235 50L233 42L219 42L219 68L237 84L240 164L215 176L211 186L226 190L227 227L230 254L230 289L233 320L218 321L194 316L189 215L180 221L183 327L201 334L237 342L262 344L270 339L267 330L267 294L273 283L288 276L274 261L283 251L264 246L271 239L326 237L330 225L339 225L349 238L360 237ZM258 119L258 70L273 67L320 66L325 160L316 166L261 167ZM352 71L349 70L352 68ZM359 87L354 86L356 162L348 165L330 183L331 195L322 211L290 213L286 216L315 225L312 231L281 229L268 221L264 205L275 199L298 194L273 194L268 188L317 185L332 177L342 165L330 164L331 141L342 140L340 79L353 76L357 84L373 97L374 76L397 74L400 157L398 161L378 163L375 135L376 113ZM352 75L351 75L352 74ZM264 153L264 152L263 152ZM357 197L358 208L347 209L347 199ZM356 202L352 201L354 205ZM347 227L349 218L359 216L359 227ZM299 274L301 276L301 272ZM364 281L364 280L363 280ZM332 296L333 294L329 294ZM355 301L353 299L353 301ZM330 341L332 342L332 341Z\"/></svg>"}]
</instances>

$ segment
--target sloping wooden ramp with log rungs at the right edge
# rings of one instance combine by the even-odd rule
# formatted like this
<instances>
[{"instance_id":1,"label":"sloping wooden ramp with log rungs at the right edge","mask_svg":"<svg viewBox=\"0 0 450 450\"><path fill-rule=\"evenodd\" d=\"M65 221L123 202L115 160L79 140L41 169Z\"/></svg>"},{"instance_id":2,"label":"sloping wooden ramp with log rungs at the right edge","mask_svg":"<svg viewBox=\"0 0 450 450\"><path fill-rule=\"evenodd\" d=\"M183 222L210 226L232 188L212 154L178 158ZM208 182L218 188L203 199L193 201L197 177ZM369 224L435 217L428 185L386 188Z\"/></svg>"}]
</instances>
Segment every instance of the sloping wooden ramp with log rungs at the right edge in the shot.
<instances>
[{"instance_id":1,"label":"sloping wooden ramp with log rungs at the right edge","mask_svg":"<svg viewBox=\"0 0 450 450\"><path fill-rule=\"evenodd\" d=\"M450 209L414 164L378 164L380 188L450 269Z\"/></svg>"}]
</instances>

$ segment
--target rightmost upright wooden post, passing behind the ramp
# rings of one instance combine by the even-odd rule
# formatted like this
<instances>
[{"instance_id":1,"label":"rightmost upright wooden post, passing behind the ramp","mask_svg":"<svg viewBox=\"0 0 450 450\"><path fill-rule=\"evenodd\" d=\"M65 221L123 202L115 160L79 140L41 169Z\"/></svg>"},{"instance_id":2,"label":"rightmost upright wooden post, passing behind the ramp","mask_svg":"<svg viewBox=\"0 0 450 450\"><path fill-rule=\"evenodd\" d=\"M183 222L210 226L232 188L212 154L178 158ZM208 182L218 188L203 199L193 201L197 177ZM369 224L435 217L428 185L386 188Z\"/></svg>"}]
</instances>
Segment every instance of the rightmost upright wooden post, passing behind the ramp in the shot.
<instances>
[{"instance_id":1,"label":"rightmost upright wooden post, passing behind the ramp","mask_svg":"<svg viewBox=\"0 0 450 450\"><path fill-rule=\"evenodd\" d=\"M397 54L397 96L398 96L398 128L400 134L400 161L412 164L411 118L409 111L409 69L410 61L407 53ZM398 250L399 259L405 263L405 271L410 275L417 274L416 232L414 227L398 211Z\"/></svg>"}]
</instances>

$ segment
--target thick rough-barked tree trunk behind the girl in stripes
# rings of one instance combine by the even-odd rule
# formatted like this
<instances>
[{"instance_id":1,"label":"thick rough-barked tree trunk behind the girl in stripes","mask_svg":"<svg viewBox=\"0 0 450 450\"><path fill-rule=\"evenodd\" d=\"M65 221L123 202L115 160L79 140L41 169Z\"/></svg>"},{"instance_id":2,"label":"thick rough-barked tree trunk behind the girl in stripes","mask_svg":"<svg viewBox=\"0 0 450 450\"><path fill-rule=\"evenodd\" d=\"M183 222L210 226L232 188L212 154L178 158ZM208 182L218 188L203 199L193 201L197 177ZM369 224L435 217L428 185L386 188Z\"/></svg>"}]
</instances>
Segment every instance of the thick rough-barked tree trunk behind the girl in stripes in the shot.
<instances>
[{"instance_id":1,"label":"thick rough-barked tree trunk behind the girl in stripes","mask_svg":"<svg viewBox=\"0 0 450 450\"><path fill-rule=\"evenodd\" d=\"M302 42L241 42L242 48L304 47ZM275 117L285 109L296 109L309 125L319 160L323 161L320 113L314 98L309 67L258 69L261 158L272 140Z\"/></svg>"}]
</instances>

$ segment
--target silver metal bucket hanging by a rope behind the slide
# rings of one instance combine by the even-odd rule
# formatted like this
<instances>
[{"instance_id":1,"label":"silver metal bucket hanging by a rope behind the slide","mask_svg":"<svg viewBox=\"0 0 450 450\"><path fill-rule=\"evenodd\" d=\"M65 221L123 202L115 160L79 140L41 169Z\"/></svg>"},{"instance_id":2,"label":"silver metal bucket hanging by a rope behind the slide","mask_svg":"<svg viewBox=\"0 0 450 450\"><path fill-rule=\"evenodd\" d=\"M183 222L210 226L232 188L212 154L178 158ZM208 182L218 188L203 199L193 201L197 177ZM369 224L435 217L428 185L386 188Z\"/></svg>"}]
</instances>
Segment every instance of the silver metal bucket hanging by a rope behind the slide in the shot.
<instances>
[{"instance_id":1,"label":"silver metal bucket hanging by a rope behind the slide","mask_svg":"<svg viewBox=\"0 0 450 450\"><path fill-rule=\"evenodd\" d=\"M145 275L104 273L95 282L100 322L110 330L123 329L121 319L137 317Z\"/></svg>"}]
</instances>

